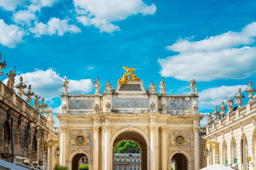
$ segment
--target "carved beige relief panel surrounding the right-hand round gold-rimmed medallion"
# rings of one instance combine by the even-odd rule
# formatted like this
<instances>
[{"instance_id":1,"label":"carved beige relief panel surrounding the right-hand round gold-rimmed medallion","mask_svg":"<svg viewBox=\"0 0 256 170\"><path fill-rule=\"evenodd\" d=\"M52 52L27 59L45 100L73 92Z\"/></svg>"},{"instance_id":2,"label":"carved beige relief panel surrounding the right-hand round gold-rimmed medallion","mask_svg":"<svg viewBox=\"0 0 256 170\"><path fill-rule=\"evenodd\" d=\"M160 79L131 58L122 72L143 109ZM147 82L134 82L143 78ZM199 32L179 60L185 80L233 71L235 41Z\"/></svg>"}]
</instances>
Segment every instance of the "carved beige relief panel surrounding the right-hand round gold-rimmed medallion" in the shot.
<instances>
[{"instance_id":1,"label":"carved beige relief panel surrounding the right-hand round gold-rimmed medallion","mask_svg":"<svg viewBox=\"0 0 256 170\"><path fill-rule=\"evenodd\" d=\"M185 142L181 146L191 146L191 132L190 130L169 130L168 131L168 143L169 146L177 146L175 143L175 137L177 135L183 135Z\"/></svg>"}]
</instances>

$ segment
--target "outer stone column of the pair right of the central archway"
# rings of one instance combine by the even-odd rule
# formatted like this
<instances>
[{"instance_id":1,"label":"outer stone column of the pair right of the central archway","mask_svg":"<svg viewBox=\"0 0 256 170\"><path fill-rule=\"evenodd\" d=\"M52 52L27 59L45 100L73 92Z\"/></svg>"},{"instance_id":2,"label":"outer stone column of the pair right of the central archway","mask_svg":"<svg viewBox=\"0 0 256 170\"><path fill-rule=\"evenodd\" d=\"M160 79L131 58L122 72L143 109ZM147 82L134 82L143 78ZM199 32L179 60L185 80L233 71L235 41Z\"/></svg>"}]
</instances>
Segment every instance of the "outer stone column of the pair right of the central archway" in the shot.
<instances>
[{"instance_id":1,"label":"outer stone column of the pair right of the central archway","mask_svg":"<svg viewBox=\"0 0 256 170\"><path fill-rule=\"evenodd\" d=\"M166 146L166 127L161 127L161 163L162 170L167 170L167 146Z\"/></svg>"}]
</instances>

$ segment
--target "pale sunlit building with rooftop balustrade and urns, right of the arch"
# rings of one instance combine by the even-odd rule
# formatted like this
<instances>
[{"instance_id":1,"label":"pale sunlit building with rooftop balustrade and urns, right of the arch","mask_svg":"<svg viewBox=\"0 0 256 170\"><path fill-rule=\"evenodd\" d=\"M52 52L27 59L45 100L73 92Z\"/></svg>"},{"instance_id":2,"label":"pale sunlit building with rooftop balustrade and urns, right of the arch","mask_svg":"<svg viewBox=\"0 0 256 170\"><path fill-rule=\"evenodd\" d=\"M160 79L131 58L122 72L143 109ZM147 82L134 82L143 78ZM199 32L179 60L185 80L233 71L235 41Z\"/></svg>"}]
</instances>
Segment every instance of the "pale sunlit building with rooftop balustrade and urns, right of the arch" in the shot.
<instances>
[{"instance_id":1,"label":"pale sunlit building with rooftop balustrade and urns, right of the arch","mask_svg":"<svg viewBox=\"0 0 256 170\"><path fill-rule=\"evenodd\" d=\"M238 108L233 108L234 100L228 98L227 106L221 102L220 113L215 106L215 111L208 114L206 135L203 137L209 151L207 165L229 164L230 167L237 166L240 170L253 170L256 160L256 100L252 99L255 98L253 91L256 90L251 86L250 81L249 88L245 90L249 92L248 103L241 106L245 95L238 89L238 95L234 95ZM218 149L210 146L212 142L219 143L219 154Z\"/></svg>"}]
</instances>

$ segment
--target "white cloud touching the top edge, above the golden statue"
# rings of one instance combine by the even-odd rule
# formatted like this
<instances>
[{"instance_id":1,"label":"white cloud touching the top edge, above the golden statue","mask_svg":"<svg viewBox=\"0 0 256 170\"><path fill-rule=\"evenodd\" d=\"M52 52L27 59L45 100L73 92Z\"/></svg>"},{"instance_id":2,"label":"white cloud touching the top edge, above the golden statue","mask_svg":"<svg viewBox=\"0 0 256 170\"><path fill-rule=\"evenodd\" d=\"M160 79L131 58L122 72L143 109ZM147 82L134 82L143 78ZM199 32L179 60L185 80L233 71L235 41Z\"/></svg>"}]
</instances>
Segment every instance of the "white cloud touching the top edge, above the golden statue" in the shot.
<instances>
[{"instance_id":1,"label":"white cloud touching the top edge, above the golden statue","mask_svg":"<svg viewBox=\"0 0 256 170\"><path fill-rule=\"evenodd\" d=\"M156 6L146 5L142 0L74 0L77 20L84 26L95 26L100 32L112 33L120 28L112 21L124 20L131 15L152 15Z\"/></svg>"}]
</instances>

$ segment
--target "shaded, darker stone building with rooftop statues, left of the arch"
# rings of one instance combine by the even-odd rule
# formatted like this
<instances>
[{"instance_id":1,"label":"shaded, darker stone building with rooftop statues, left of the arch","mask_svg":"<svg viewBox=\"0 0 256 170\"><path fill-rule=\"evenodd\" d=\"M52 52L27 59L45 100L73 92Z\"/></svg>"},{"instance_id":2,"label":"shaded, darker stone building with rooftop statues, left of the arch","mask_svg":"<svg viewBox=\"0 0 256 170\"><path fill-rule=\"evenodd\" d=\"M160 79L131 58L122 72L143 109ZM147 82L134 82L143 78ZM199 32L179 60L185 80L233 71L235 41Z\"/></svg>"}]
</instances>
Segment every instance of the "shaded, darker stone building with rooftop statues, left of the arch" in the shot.
<instances>
[{"instance_id":1,"label":"shaded, darker stone building with rooftop statues, left of the arch","mask_svg":"<svg viewBox=\"0 0 256 170\"><path fill-rule=\"evenodd\" d=\"M2 68L3 63L0 62L0 66ZM0 81L0 159L33 168L52 169L53 164L57 162L54 155L56 146L46 149L48 154L44 152L45 141L58 140L56 132L54 133L51 111L43 102L38 105L41 110L28 104L34 95L30 91L31 85L26 92L26 95L29 95L28 103L22 99L23 89L27 88L27 85L22 83L22 77L20 83L15 86L19 94L17 95L14 77L15 69L8 74L7 85ZM1 161L0 169L6 164Z\"/></svg>"}]
</instances>

